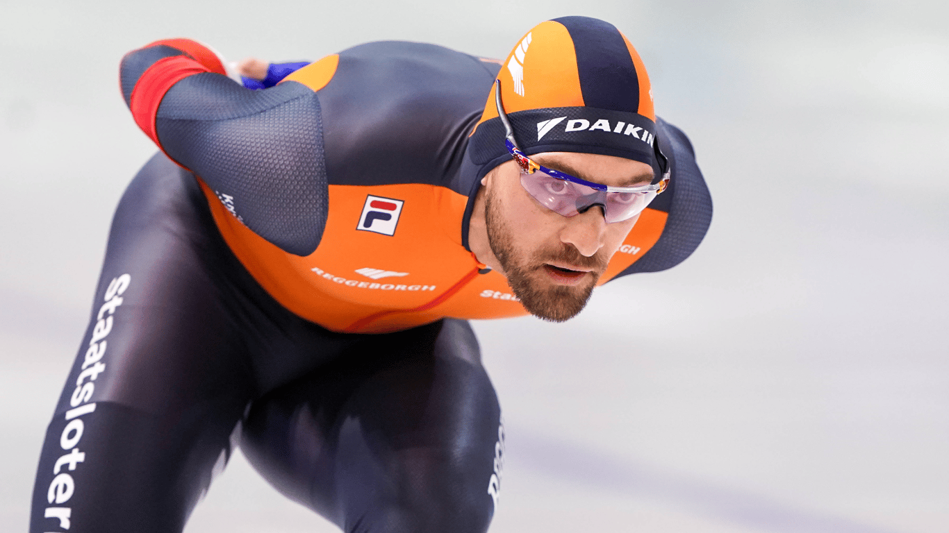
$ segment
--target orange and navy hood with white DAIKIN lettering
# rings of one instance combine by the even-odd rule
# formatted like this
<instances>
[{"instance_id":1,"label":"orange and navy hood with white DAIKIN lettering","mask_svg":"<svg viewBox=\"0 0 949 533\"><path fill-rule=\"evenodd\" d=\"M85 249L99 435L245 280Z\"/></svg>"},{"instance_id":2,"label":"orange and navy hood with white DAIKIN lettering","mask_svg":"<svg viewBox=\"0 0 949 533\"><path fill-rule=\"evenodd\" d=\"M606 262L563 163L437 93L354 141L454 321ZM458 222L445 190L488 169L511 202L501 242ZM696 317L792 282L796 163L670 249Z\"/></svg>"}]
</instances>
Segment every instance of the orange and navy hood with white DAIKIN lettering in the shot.
<instances>
[{"instance_id":1,"label":"orange and navy hood with white DAIKIN lettering","mask_svg":"<svg viewBox=\"0 0 949 533\"><path fill-rule=\"evenodd\" d=\"M657 167L649 77L636 49L613 25L578 16L543 22L514 46L497 81L526 154L583 152ZM511 157L493 90L469 154L483 174Z\"/></svg>"}]
</instances>

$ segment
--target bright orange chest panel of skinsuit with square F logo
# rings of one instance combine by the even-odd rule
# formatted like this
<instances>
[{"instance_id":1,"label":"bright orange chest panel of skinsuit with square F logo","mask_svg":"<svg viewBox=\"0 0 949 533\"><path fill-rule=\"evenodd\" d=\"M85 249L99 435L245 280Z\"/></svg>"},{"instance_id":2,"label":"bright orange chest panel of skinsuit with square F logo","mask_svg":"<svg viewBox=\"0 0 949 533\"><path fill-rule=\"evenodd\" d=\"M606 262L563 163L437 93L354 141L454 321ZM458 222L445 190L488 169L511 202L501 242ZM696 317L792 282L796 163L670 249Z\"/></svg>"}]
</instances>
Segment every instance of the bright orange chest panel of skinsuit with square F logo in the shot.
<instances>
[{"instance_id":1,"label":"bright orange chest panel of skinsuit with square F logo","mask_svg":"<svg viewBox=\"0 0 949 533\"><path fill-rule=\"evenodd\" d=\"M234 254L275 300L342 332L382 333L444 317L527 314L500 274L478 273L461 245L468 198L424 184L329 186L320 246L300 257L240 223L203 182L214 222ZM601 283L651 248L665 213L644 211Z\"/></svg>"}]
</instances>

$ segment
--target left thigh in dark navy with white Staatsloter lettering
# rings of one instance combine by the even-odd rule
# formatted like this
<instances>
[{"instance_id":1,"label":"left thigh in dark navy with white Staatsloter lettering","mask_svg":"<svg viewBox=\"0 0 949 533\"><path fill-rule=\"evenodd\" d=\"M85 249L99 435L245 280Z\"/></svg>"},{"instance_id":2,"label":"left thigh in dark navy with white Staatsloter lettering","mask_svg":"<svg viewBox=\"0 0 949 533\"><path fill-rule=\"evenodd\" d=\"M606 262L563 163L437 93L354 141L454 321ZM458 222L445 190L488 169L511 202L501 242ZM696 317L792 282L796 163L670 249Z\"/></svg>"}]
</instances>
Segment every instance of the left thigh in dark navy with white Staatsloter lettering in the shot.
<instances>
[{"instance_id":1,"label":"left thigh in dark navy with white Staatsloter lettering","mask_svg":"<svg viewBox=\"0 0 949 533\"><path fill-rule=\"evenodd\" d=\"M30 531L180 531L226 461L254 388L233 259L203 202L162 156L123 195Z\"/></svg>"}]
</instances>

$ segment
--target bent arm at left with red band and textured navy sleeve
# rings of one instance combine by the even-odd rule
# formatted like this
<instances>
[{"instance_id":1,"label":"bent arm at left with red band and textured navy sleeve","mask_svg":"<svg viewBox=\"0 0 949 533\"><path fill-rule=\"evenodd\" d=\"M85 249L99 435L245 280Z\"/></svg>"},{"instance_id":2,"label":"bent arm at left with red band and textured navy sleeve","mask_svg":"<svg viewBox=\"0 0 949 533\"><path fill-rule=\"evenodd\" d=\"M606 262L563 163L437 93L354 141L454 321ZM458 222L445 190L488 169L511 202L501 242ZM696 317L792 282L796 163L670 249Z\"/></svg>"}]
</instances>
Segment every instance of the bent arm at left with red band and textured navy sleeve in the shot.
<instances>
[{"instance_id":1,"label":"bent arm at left with red band and textured navy sleeve","mask_svg":"<svg viewBox=\"0 0 949 533\"><path fill-rule=\"evenodd\" d=\"M251 91L195 41L158 41L121 62L121 90L141 130L195 173L229 211L296 255L319 245L328 188L316 94L302 83Z\"/></svg>"}]
</instances>

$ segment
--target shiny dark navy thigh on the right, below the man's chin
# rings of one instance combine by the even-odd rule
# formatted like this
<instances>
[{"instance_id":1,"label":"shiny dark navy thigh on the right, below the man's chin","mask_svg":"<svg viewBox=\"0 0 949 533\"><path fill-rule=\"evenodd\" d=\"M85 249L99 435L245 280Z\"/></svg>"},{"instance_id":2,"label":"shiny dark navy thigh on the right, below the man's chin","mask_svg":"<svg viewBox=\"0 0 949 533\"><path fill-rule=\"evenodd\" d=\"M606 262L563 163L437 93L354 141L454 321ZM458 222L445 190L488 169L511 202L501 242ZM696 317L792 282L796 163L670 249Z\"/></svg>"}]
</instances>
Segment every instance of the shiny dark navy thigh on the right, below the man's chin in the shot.
<instances>
[{"instance_id":1,"label":"shiny dark navy thigh on the right, below the man's chin","mask_svg":"<svg viewBox=\"0 0 949 533\"><path fill-rule=\"evenodd\" d=\"M241 447L347 532L485 531L500 408L467 322L353 336L332 364L255 401Z\"/></svg>"}]
</instances>

